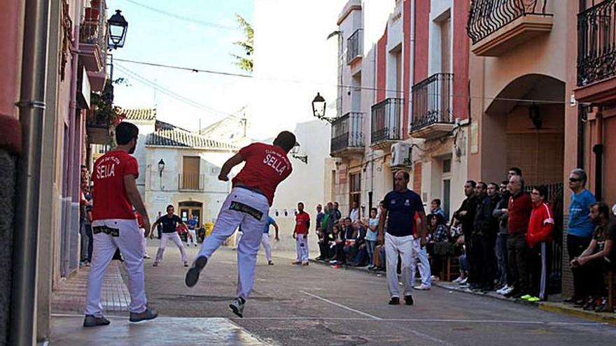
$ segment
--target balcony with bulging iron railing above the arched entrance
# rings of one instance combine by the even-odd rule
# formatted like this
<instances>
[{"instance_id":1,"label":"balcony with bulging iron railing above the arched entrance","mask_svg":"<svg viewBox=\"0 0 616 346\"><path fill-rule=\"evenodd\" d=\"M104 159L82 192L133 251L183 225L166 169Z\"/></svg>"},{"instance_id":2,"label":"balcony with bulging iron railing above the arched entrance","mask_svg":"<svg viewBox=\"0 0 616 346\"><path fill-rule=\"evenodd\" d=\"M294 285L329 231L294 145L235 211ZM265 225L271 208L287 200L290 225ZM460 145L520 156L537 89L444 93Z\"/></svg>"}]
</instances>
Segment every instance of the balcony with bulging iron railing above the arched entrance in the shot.
<instances>
[{"instance_id":1,"label":"balcony with bulging iron railing above the arched entrance","mask_svg":"<svg viewBox=\"0 0 616 346\"><path fill-rule=\"evenodd\" d=\"M498 57L552 30L547 0L472 0L467 34L470 50L482 57Z\"/></svg>"}]
</instances>

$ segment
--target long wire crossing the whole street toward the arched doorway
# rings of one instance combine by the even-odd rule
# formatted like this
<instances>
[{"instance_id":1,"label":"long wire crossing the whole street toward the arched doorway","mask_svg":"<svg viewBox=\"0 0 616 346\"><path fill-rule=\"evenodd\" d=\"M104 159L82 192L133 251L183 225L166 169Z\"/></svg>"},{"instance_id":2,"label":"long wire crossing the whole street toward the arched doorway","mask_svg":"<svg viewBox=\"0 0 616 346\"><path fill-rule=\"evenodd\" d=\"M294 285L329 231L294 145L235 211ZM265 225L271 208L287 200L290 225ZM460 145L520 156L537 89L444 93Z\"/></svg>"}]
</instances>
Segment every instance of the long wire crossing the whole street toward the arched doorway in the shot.
<instances>
[{"instance_id":1,"label":"long wire crossing the whole street toward the arched doorway","mask_svg":"<svg viewBox=\"0 0 616 346\"><path fill-rule=\"evenodd\" d=\"M129 0L127 0L129 1ZM262 77L254 77L252 75L245 75L245 74L241 74L241 73L232 73L232 72L223 72L223 71L213 71L213 70L207 70L207 69L197 69L197 68L191 68L191 67L185 67L185 66L174 66L174 65L167 65L167 64L157 64L157 63L153 63L153 62L140 62L137 60L128 60L128 59L115 59L118 62L127 62L130 64L140 64L140 65L146 65L146 66L152 66L152 67L158 67L158 68L162 68L162 69L176 69L176 70L181 70L181 71L189 71L189 72L193 72L193 73L213 73L213 74L217 74L217 75L227 75L227 76L232 76L232 77L241 77L241 78L254 78L254 79L258 79L258 80L268 80L268 81L274 81L274 82L287 82L287 83L293 83L293 84L299 84L299 85L307 85L307 84L311 84L311 85L319 85L319 86L323 86L323 83L318 83L318 82L306 82L306 81L302 81L302 80L287 80L287 79L280 79L280 78L262 78ZM356 85L336 85L336 87L342 87L343 89L348 89L348 90L369 90L369 91L373 91L373 92L391 92L391 93L395 93L395 94L403 94L404 92L400 91L400 90L396 90L396 89L386 89L386 88L378 88L378 87L358 87ZM407 94L409 94L409 96L412 96L412 91L408 91L406 92ZM423 95L425 96L440 96L442 95L441 93L424 93ZM519 102L519 103L535 103L535 104L565 104L565 101L555 101L555 100L542 100L542 99L518 99L518 98L512 98L512 97L489 97L489 96L465 96L465 95L456 95L456 94L452 94L451 98L454 99L483 99L483 100L487 100L487 101L511 101L511 102ZM409 97L409 103L412 103L412 97Z\"/></svg>"}]
</instances>

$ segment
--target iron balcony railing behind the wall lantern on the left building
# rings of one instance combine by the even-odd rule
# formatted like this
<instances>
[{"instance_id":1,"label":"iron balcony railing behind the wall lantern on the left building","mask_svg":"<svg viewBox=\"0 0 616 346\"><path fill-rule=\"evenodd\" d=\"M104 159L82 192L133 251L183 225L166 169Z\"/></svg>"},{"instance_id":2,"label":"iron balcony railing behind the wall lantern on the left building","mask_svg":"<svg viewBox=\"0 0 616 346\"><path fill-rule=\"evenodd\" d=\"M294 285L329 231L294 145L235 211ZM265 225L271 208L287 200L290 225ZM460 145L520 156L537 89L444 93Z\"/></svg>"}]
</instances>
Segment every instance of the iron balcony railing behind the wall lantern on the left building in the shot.
<instances>
[{"instance_id":1,"label":"iron balcony railing behind the wall lantern on the left building","mask_svg":"<svg viewBox=\"0 0 616 346\"><path fill-rule=\"evenodd\" d=\"M107 6L105 0L92 1L96 7L85 8L84 20L79 29L79 42L98 45L103 62L107 57Z\"/></svg>"}]
</instances>

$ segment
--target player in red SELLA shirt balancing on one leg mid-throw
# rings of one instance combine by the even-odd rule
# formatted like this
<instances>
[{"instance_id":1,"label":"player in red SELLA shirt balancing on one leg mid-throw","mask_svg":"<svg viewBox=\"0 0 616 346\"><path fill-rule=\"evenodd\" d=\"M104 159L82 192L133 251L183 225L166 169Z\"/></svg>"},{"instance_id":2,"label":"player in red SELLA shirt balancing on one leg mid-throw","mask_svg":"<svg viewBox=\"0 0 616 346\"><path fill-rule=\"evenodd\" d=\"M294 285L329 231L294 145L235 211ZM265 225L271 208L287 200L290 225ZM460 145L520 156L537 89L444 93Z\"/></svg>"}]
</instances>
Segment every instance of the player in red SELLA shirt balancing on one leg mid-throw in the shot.
<instances>
[{"instance_id":1,"label":"player in red SELLA shirt balancing on one leg mid-throw","mask_svg":"<svg viewBox=\"0 0 616 346\"><path fill-rule=\"evenodd\" d=\"M195 286L208 259L240 226L244 235L237 245L237 298L229 305L239 317L243 317L246 298L253 288L257 252L274 192L293 169L287 154L294 145L295 135L282 131L274 145L253 143L223 164L218 180L228 181L231 168L245 162L233 178L233 189L218 213L211 236L203 242L197 259L186 273L186 286Z\"/></svg>"}]
</instances>

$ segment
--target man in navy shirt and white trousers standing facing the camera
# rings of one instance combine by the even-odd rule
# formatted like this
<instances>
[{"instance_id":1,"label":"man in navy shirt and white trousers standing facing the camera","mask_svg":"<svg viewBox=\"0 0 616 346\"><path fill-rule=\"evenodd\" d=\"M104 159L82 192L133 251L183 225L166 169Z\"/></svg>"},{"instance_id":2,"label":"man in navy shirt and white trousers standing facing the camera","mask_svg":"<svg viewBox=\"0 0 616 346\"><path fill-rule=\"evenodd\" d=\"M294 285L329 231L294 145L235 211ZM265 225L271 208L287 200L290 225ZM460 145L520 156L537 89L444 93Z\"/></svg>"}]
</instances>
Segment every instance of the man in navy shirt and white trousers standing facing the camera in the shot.
<instances>
[{"instance_id":1,"label":"man in navy shirt and white trousers standing facing the camera","mask_svg":"<svg viewBox=\"0 0 616 346\"><path fill-rule=\"evenodd\" d=\"M411 277L415 266L416 254L413 252L413 234L415 226L419 226L417 236L421 246L426 246L426 212L423 210L421 197L407 189L410 176L405 171L395 173L394 190L386 194L383 199L383 212L379 218L380 244L385 243L387 263L387 287L391 299L390 305L400 304L400 289L398 288L398 274L396 273L398 255L402 260L402 283L405 285L405 303L413 305L414 277ZM416 224L415 218L418 222ZM387 220L387 233L384 232Z\"/></svg>"}]
</instances>

